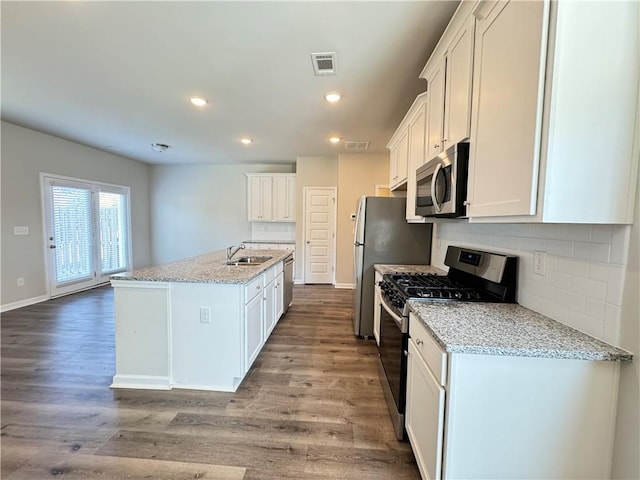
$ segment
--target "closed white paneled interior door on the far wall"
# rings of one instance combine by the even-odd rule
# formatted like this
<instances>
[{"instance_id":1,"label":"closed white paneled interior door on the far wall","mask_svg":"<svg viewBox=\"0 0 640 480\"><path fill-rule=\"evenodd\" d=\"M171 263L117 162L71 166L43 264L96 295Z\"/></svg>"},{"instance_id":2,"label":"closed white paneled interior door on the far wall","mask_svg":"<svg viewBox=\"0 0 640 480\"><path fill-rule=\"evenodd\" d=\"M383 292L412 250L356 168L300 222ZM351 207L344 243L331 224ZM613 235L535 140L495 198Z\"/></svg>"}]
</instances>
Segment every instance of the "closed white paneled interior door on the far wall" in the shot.
<instances>
[{"instance_id":1,"label":"closed white paneled interior door on the far wall","mask_svg":"<svg viewBox=\"0 0 640 480\"><path fill-rule=\"evenodd\" d=\"M336 189L305 189L305 283L333 283Z\"/></svg>"}]
</instances>

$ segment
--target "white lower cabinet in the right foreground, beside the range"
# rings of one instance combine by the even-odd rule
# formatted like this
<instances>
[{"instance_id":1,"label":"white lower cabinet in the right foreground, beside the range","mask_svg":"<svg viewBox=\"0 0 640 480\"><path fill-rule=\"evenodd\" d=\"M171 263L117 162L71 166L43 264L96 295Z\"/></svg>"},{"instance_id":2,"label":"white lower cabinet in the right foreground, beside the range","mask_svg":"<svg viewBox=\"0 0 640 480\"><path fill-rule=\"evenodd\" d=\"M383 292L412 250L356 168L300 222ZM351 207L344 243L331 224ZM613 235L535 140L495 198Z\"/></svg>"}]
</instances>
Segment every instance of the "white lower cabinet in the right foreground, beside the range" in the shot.
<instances>
[{"instance_id":1,"label":"white lower cabinet in the right foreground, beside the range","mask_svg":"<svg viewBox=\"0 0 640 480\"><path fill-rule=\"evenodd\" d=\"M619 362L446 353L413 314L409 334L423 479L609 478Z\"/></svg>"}]
</instances>

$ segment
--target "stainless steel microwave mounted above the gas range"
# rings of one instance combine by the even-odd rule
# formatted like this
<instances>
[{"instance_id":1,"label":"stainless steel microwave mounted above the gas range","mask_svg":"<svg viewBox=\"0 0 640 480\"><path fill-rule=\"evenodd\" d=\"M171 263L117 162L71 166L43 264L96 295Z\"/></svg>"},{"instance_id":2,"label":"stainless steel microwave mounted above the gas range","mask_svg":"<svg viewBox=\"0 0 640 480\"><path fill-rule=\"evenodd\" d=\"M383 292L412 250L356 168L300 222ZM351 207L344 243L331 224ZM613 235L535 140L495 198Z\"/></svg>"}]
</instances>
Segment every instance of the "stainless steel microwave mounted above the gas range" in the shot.
<instances>
[{"instance_id":1,"label":"stainless steel microwave mounted above the gas range","mask_svg":"<svg viewBox=\"0 0 640 480\"><path fill-rule=\"evenodd\" d=\"M458 143L416 170L416 215L466 215L469 144Z\"/></svg>"}]
</instances>

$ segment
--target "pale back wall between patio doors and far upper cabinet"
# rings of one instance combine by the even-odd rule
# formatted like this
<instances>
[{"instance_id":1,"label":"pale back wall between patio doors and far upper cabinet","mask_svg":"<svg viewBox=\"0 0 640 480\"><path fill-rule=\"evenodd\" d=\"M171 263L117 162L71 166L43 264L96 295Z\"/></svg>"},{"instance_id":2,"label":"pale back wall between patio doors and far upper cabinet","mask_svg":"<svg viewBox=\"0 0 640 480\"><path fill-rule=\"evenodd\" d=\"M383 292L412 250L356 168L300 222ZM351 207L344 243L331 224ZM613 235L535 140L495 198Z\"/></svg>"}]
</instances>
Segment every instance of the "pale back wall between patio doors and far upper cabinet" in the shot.
<instances>
[{"instance_id":1,"label":"pale back wall between patio doors and far upper cabinet","mask_svg":"<svg viewBox=\"0 0 640 480\"><path fill-rule=\"evenodd\" d=\"M153 166L153 263L250 240L245 173L293 173L294 168L293 164Z\"/></svg>"}]
</instances>

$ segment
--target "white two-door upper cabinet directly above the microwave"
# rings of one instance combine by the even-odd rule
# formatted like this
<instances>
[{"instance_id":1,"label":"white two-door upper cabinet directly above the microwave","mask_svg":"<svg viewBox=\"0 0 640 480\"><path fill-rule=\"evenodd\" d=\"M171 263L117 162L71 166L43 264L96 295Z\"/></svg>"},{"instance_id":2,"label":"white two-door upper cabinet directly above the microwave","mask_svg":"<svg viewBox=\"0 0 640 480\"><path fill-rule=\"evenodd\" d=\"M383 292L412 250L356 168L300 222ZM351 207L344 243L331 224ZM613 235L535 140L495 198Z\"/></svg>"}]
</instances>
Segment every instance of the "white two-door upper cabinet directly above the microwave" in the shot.
<instances>
[{"instance_id":1,"label":"white two-door upper cabinet directly above the microwave","mask_svg":"<svg viewBox=\"0 0 640 480\"><path fill-rule=\"evenodd\" d=\"M427 80L429 103L427 159L470 136L475 25L471 6L460 4L420 74Z\"/></svg>"}]
</instances>

